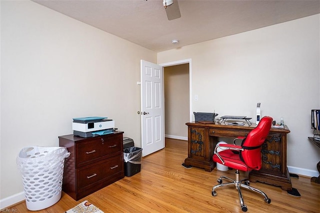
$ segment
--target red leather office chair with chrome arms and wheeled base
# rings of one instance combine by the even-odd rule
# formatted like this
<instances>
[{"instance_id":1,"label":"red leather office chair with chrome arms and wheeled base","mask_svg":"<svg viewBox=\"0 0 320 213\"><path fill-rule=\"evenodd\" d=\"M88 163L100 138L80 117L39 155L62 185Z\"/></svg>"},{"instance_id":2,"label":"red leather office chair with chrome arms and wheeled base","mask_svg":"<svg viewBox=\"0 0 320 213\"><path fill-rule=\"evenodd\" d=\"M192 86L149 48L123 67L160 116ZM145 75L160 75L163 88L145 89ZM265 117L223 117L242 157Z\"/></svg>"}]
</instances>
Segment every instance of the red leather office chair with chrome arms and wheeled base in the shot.
<instances>
[{"instance_id":1,"label":"red leather office chair with chrome arms and wheeled base","mask_svg":"<svg viewBox=\"0 0 320 213\"><path fill-rule=\"evenodd\" d=\"M213 161L234 168L236 169L236 171L235 180L226 176L220 176L218 178L217 181L219 184L212 187L212 196L217 195L215 192L216 188L234 184L239 193L239 200L242 211L246 211L247 208L243 203L240 187L248 188L252 191L258 192L264 196L265 202L271 202L271 199L268 198L264 192L249 186L249 180L239 180L239 170L250 171L252 169L259 170L261 168L261 145L263 144L267 134L269 133L271 123L272 117L264 116L259 121L258 125L254 129L252 129L245 138L237 137L233 140L233 144L219 144L215 147L214 154L212 156ZM241 145L235 144L235 141L237 139L242 140ZM222 151L217 152L216 149L218 147L220 147ZM222 178L228 179L232 182L222 183Z\"/></svg>"}]
</instances>

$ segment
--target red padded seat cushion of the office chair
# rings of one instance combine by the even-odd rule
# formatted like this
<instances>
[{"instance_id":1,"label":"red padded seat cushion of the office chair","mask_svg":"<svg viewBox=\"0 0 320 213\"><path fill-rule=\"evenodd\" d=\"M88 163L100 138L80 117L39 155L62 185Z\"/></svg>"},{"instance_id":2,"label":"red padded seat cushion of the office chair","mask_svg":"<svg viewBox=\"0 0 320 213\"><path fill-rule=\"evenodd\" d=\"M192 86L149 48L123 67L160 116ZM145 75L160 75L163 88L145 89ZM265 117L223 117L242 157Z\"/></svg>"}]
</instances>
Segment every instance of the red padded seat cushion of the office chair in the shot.
<instances>
[{"instance_id":1,"label":"red padded seat cushion of the office chair","mask_svg":"<svg viewBox=\"0 0 320 213\"><path fill-rule=\"evenodd\" d=\"M220 156L224 160L224 165L238 169L241 171L250 171L251 169L245 165L245 163L240 159L239 154L233 153L230 149L219 151ZM221 160L216 154L213 154L213 161L221 163Z\"/></svg>"}]
</instances>

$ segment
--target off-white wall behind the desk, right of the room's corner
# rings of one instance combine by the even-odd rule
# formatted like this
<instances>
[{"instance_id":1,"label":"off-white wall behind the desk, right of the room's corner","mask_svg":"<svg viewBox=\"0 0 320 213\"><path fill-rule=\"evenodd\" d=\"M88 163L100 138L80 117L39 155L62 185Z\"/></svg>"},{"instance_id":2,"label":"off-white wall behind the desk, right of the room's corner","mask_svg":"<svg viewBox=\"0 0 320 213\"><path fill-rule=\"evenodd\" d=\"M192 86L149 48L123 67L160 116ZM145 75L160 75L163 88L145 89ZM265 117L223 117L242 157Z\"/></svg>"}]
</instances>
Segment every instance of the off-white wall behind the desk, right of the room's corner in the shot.
<instances>
[{"instance_id":1,"label":"off-white wall behind the desk, right of the room's corner","mask_svg":"<svg viewBox=\"0 0 320 213\"><path fill-rule=\"evenodd\" d=\"M317 176L320 149L307 137L310 111L320 108L319 19L312 15L159 52L158 63L192 58L192 111L254 117L261 102L262 115L283 116L291 131L289 171Z\"/></svg>"}]
</instances>

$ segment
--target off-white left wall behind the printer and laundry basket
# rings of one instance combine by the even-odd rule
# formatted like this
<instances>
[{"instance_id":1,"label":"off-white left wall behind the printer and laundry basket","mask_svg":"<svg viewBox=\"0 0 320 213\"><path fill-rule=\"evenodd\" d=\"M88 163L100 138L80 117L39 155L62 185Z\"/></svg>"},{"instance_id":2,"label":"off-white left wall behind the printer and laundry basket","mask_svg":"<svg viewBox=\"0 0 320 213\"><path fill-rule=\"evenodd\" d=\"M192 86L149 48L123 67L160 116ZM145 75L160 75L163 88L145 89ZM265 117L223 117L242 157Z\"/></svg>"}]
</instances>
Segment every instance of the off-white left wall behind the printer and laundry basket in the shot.
<instances>
[{"instance_id":1,"label":"off-white left wall behind the printer and laundry basket","mask_svg":"<svg viewBox=\"0 0 320 213\"><path fill-rule=\"evenodd\" d=\"M136 81L140 59L156 63L156 52L32 1L0 2L2 208L23 191L21 148L58 146L72 117L112 118L141 145Z\"/></svg>"}]
</instances>

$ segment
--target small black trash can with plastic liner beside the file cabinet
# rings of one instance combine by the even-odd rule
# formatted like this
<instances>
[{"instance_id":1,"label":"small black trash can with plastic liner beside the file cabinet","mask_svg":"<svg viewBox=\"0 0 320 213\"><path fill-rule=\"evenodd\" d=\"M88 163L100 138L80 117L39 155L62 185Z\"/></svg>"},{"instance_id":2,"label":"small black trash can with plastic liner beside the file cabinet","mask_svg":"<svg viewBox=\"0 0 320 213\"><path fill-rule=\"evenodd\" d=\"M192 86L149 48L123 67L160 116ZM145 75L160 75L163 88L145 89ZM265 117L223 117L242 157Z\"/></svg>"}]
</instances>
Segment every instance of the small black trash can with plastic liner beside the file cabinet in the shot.
<instances>
[{"instance_id":1,"label":"small black trash can with plastic liner beside the file cabinet","mask_svg":"<svg viewBox=\"0 0 320 213\"><path fill-rule=\"evenodd\" d=\"M128 147L123 149L124 175L132 176L141 170L142 148Z\"/></svg>"}]
</instances>

